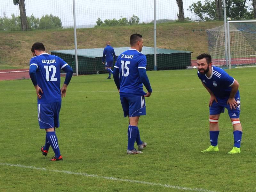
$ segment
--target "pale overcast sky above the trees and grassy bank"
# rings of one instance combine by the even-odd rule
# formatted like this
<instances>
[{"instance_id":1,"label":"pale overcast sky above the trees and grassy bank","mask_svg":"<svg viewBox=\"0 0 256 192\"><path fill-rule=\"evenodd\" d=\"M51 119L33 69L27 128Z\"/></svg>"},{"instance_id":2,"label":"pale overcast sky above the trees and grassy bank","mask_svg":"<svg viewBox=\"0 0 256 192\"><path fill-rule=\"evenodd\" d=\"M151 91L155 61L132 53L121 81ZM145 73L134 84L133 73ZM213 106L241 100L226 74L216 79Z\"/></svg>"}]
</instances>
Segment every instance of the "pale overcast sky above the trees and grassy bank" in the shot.
<instances>
[{"instance_id":1,"label":"pale overcast sky above the trees and grassy bank","mask_svg":"<svg viewBox=\"0 0 256 192\"><path fill-rule=\"evenodd\" d=\"M198 0L183 0L185 17L196 19L196 16L187 11L188 6ZM19 6L12 0L0 0L0 17L20 15ZM60 17L63 26L73 25L72 0L25 0L26 14L41 18L45 14ZM75 0L76 24L95 25L96 20L129 18L134 14L139 16L140 22L154 20L154 0ZM178 5L176 0L156 0L156 19L177 19Z\"/></svg>"}]
</instances>

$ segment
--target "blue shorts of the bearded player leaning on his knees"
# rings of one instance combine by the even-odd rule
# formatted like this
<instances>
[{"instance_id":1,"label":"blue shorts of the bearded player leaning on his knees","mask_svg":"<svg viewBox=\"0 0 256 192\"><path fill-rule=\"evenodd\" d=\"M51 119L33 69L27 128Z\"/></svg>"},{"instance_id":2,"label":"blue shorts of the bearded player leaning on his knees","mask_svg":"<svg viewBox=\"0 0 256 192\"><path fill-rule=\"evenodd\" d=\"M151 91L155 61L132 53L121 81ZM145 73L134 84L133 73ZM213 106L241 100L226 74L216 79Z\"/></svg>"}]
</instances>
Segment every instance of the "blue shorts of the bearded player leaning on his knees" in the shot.
<instances>
[{"instance_id":1,"label":"blue shorts of the bearded player leaning on his knees","mask_svg":"<svg viewBox=\"0 0 256 192\"><path fill-rule=\"evenodd\" d=\"M236 102L238 103L236 109L231 109L229 104L227 104L228 99L220 99L217 98L218 103L216 101L212 102L212 106L210 107L210 115L217 115L220 113L224 113L225 108L228 109L228 115L231 118L239 118L240 116L240 96L239 94L235 97Z\"/></svg>"}]
</instances>

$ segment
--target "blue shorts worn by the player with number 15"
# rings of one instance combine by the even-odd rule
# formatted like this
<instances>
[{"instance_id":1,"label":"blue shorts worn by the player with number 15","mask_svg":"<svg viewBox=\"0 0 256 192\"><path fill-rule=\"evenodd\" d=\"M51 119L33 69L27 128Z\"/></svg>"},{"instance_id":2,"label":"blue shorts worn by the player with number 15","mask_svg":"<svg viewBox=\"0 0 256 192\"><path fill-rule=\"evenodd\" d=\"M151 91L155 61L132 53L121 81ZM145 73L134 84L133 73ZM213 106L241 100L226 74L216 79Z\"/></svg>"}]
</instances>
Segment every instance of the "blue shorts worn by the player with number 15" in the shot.
<instances>
[{"instance_id":1,"label":"blue shorts worn by the player with number 15","mask_svg":"<svg viewBox=\"0 0 256 192\"><path fill-rule=\"evenodd\" d=\"M124 111L124 117L146 115L146 103L143 95L132 97L120 97Z\"/></svg>"}]
</instances>

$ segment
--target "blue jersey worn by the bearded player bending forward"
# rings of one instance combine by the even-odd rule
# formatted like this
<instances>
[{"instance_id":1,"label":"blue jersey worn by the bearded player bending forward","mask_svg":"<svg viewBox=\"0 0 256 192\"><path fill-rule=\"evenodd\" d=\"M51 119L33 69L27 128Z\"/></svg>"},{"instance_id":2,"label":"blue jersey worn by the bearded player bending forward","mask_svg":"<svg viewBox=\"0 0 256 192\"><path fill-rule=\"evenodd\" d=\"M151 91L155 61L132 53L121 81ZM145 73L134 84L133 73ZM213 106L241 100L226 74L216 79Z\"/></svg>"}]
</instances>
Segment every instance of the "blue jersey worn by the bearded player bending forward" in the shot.
<instances>
[{"instance_id":1,"label":"blue jersey worn by the bearded player bending forward","mask_svg":"<svg viewBox=\"0 0 256 192\"><path fill-rule=\"evenodd\" d=\"M216 97L228 99L232 89L230 86L234 84L235 79L229 76L226 71L219 67L212 66L212 75L210 77L200 74L199 71L197 75ZM236 92L236 95L237 94L239 94L239 91Z\"/></svg>"}]
</instances>

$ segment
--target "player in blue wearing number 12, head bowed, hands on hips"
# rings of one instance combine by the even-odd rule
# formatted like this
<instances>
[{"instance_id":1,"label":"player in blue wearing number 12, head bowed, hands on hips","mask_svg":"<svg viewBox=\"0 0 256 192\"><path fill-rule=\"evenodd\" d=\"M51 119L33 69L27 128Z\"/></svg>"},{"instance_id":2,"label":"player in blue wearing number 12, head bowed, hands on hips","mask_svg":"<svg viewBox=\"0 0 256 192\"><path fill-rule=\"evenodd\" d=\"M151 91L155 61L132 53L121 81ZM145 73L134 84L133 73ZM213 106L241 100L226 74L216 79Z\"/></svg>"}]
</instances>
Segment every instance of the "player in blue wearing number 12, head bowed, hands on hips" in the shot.
<instances>
[{"instance_id":1,"label":"player in blue wearing number 12, head bowed, hands on hips","mask_svg":"<svg viewBox=\"0 0 256 192\"><path fill-rule=\"evenodd\" d=\"M62 156L55 127L60 125L61 98L66 96L73 70L60 57L46 53L42 43L34 43L31 52L34 57L30 60L29 75L37 94L39 126L46 131L45 144L41 147L41 151L44 156L47 156L51 146L55 156L50 160L60 161ZM66 79L60 89L61 69L66 72Z\"/></svg>"}]
</instances>

